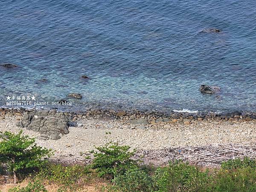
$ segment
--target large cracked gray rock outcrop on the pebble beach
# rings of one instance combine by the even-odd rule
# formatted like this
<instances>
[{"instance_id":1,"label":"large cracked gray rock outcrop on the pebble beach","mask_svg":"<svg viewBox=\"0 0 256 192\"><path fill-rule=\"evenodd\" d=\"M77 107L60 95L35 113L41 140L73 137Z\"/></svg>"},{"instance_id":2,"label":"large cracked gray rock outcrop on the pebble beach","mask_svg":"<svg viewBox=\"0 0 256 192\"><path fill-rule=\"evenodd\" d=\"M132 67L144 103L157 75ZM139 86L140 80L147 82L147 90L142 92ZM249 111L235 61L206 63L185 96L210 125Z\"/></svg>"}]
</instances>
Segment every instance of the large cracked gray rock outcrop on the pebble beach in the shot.
<instances>
[{"instance_id":1,"label":"large cracked gray rock outcrop on the pebble beach","mask_svg":"<svg viewBox=\"0 0 256 192\"><path fill-rule=\"evenodd\" d=\"M20 126L39 132L41 134L40 139L57 140L61 138L60 134L69 133L68 127L71 119L72 116L56 110L33 111L23 114Z\"/></svg>"}]
</instances>

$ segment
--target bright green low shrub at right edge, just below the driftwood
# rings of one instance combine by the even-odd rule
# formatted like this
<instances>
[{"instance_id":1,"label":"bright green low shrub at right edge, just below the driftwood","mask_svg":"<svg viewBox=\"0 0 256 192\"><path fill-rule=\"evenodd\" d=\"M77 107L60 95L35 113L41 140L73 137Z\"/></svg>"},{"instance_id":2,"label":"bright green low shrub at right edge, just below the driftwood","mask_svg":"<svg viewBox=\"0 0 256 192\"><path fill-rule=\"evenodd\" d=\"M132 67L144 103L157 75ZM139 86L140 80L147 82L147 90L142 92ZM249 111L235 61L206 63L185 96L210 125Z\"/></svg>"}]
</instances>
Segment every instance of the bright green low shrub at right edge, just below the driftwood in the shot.
<instances>
[{"instance_id":1,"label":"bright green low shrub at right edge, just below the driftwood","mask_svg":"<svg viewBox=\"0 0 256 192\"><path fill-rule=\"evenodd\" d=\"M256 169L256 160L251 160L249 157L244 157L244 159L234 159L234 160L228 160L223 161L221 163L222 169L238 169L241 167L250 167Z\"/></svg>"}]
</instances>

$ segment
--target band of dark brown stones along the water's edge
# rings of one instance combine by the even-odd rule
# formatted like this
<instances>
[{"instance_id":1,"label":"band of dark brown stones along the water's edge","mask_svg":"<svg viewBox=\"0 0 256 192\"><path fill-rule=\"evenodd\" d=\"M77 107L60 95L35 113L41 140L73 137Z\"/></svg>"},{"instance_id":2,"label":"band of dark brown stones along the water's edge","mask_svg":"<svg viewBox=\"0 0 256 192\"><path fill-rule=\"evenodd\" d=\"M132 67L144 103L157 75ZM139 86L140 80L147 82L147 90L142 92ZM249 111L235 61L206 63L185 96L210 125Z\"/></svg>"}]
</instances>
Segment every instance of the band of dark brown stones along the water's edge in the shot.
<instances>
[{"instance_id":1,"label":"band of dark brown stones along the water's edge","mask_svg":"<svg viewBox=\"0 0 256 192\"><path fill-rule=\"evenodd\" d=\"M4 119L5 116L23 116L23 113L31 113L33 109L8 109L0 108L0 120ZM49 110L47 110L49 111ZM237 123L237 122L250 122L256 121L256 113L254 112L240 112L232 111L225 113L212 113L212 112L198 112L198 113L186 113L186 112L170 112L162 113L158 111L144 112L138 110L130 111L118 111L118 110L104 110L104 109L93 109L88 111L77 111L77 112L63 112L65 115L71 115L73 121L81 118L94 117L99 119L120 119L120 120L133 120L144 118L150 124L155 124L159 122L168 122L168 123L179 123L179 124L194 124L198 122L227 122ZM19 119L19 118L17 118Z\"/></svg>"}]
</instances>

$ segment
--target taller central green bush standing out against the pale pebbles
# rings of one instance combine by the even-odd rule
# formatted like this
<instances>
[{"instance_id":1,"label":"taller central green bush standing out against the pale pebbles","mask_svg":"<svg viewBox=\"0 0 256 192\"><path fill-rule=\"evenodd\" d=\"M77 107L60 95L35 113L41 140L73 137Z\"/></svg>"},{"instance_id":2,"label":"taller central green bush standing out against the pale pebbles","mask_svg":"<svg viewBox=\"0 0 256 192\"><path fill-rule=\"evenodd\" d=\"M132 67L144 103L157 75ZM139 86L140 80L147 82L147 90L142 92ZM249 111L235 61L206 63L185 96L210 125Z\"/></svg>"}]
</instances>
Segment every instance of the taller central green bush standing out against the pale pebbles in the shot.
<instances>
[{"instance_id":1,"label":"taller central green bush standing out against the pale pebbles","mask_svg":"<svg viewBox=\"0 0 256 192\"><path fill-rule=\"evenodd\" d=\"M93 156L92 169L96 169L98 176L109 174L112 177L123 174L125 170L136 166L131 159L134 151L129 152L129 146L119 146L117 143L107 143L104 146L96 147L99 151L91 151Z\"/></svg>"}]
</instances>

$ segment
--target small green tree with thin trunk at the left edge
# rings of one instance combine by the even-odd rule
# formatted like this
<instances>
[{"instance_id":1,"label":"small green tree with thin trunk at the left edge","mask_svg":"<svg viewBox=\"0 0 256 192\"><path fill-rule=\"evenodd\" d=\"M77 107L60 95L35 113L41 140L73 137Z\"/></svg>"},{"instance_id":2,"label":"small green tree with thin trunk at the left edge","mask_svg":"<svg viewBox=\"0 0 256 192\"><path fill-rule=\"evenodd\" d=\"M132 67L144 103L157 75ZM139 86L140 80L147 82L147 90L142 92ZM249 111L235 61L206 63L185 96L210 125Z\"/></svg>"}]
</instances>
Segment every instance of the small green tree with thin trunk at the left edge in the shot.
<instances>
[{"instance_id":1,"label":"small green tree with thin trunk at the left edge","mask_svg":"<svg viewBox=\"0 0 256 192\"><path fill-rule=\"evenodd\" d=\"M9 171L13 172L14 183L17 183L16 172L25 168L39 167L46 163L42 157L50 157L51 149L42 148L35 144L35 139L18 134L4 132L0 134L0 162L6 163ZM4 136L4 137L3 137Z\"/></svg>"}]
</instances>

